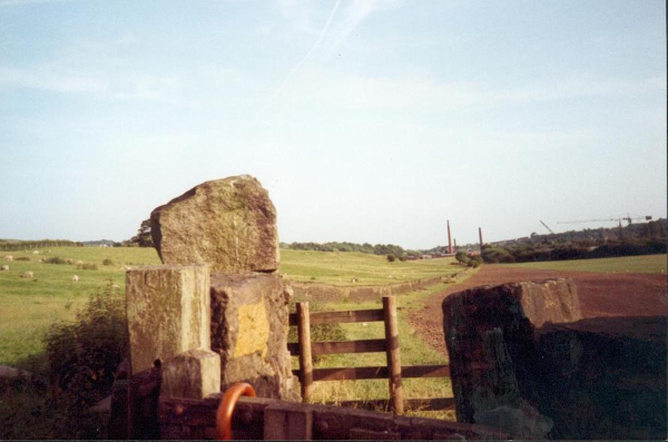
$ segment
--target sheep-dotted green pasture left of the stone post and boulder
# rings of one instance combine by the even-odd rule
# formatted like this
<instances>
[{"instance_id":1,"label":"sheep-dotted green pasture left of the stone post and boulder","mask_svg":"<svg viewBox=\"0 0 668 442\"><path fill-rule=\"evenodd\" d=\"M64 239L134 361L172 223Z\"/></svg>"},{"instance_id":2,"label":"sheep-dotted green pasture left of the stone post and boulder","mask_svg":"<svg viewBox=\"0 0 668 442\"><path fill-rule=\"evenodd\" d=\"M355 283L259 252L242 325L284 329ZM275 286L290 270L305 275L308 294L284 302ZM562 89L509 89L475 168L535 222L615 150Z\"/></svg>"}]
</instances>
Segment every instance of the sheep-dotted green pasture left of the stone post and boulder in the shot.
<instances>
[{"instance_id":1,"label":"sheep-dotted green pasture left of the stone post and boulder","mask_svg":"<svg viewBox=\"0 0 668 442\"><path fill-rule=\"evenodd\" d=\"M9 272L0 273L0 365L13 365L42 352L43 334L49 325L60 320L72 320L77 306L89 295L102 289L109 282L125 291L126 266L159 264L153 248L131 247L52 247L32 252L2 252L14 257ZM30 261L16 261L17 257ZM45 264L40 258L61 257L73 264ZM104 265L111 259L114 265ZM77 262L97 265L97 269L77 268ZM32 279L20 277L32 272ZM79 282L72 282L72 275Z\"/></svg>"}]
</instances>

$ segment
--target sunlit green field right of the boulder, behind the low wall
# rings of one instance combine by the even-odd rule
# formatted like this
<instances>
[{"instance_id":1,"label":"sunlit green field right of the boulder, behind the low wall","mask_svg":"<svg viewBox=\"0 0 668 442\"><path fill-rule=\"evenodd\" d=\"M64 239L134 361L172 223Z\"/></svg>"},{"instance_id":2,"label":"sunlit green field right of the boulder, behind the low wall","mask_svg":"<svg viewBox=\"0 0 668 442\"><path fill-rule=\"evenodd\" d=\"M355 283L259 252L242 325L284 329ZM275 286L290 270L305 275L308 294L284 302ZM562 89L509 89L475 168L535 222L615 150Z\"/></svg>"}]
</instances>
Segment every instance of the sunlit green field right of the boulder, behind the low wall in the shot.
<instances>
[{"instance_id":1,"label":"sunlit green field right of the boulder, behind the low wall","mask_svg":"<svg viewBox=\"0 0 668 442\"><path fill-rule=\"evenodd\" d=\"M393 284L453 274L462 267L453 258L395 261L356 252L281 251L281 273L292 281L323 284Z\"/></svg>"}]
</instances>

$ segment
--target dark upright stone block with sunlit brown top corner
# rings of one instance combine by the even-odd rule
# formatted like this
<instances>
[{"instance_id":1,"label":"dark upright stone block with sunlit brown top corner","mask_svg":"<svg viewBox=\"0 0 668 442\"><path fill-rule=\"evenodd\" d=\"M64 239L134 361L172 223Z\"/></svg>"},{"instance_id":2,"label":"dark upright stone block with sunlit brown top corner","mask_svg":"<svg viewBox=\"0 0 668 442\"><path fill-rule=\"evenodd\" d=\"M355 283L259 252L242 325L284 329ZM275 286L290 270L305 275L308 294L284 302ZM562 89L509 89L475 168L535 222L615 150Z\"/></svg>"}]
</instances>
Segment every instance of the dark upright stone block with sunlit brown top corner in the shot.
<instances>
[{"instance_id":1,"label":"dark upright stone block with sunlit brown top corner","mask_svg":"<svg viewBox=\"0 0 668 442\"><path fill-rule=\"evenodd\" d=\"M458 421L475 423L477 412L536 404L536 327L580 316L577 289L568 279L475 287L446 297L443 328ZM544 428L537 425L525 428Z\"/></svg>"}]
</instances>

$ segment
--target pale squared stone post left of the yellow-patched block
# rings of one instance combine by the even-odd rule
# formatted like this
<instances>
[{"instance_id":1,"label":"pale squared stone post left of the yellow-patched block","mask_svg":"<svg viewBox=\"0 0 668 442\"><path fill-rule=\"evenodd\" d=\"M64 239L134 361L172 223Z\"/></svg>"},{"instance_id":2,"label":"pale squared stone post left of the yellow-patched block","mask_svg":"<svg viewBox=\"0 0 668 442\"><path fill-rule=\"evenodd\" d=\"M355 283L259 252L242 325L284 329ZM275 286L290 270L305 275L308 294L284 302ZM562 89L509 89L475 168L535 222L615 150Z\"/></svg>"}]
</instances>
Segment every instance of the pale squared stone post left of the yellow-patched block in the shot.
<instances>
[{"instance_id":1,"label":"pale squared stone post left of the yellow-patched block","mask_svg":"<svg viewBox=\"0 0 668 442\"><path fill-rule=\"evenodd\" d=\"M210 343L210 278L205 265L137 267L126 274L132 373Z\"/></svg>"}]
</instances>

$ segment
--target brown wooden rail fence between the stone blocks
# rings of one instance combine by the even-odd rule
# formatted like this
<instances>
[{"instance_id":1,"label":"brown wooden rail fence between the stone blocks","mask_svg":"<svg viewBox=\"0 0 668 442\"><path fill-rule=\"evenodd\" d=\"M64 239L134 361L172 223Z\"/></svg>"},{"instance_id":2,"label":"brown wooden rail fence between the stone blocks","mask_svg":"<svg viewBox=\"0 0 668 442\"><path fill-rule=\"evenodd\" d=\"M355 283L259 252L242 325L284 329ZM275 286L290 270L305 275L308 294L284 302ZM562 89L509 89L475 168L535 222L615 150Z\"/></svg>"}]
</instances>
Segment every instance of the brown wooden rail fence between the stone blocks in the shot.
<instances>
[{"instance_id":1,"label":"brown wooden rail fence between the stone blocks","mask_svg":"<svg viewBox=\"0 0 668 442\"><path fill-rule=\"evenodd\" d=\"M343 342L311 342L311 324L341 324L356 322L384 322L385 337L381 340L361 340ZM394 296L383 296L383 308L345 312L308 312L308 303L297 303L297 312L289 315L289 325L297 327L297 343L287 344L289 352L299 357L299 370L293 373L302 384L302 399L312 401L313 383L321 381L346 381L387 379L390 405L395 413L403 413L404 400L401 380L403 377L450 377L449 365L402 366L399 328L396 325L396 305ZM314 369L313 356L336 353L384 352L385 366ZM443 410L454 406L453 397L407 400L411 406L426 410ZM346 404L382 405L384 400L347 401Z\"/></svg>"}]
</instances>

